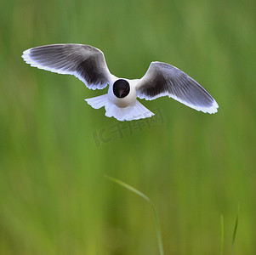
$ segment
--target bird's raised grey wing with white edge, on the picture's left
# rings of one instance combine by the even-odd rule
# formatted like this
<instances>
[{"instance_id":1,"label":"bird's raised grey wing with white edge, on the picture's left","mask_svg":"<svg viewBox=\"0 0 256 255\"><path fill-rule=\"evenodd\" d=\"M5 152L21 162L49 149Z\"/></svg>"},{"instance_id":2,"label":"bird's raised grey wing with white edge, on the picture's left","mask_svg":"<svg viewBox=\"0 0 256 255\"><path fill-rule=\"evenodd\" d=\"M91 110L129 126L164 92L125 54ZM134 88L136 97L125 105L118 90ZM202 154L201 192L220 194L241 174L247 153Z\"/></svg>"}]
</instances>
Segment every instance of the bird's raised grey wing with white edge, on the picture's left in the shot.
<instances>
[{"instance_id":1,"label":"bird's raised grey wing with white edge, on the picture's left","mask_svg":"<svg viewBox=\"0 0 256 255\"><path fill-rule=\"evenodd\" d=\"M51 44L30 48L22 58L27 64L60 74L74 75L88 88L105 88L111 73L98 48L82 44Z\"/></svg>"}]
</instances>

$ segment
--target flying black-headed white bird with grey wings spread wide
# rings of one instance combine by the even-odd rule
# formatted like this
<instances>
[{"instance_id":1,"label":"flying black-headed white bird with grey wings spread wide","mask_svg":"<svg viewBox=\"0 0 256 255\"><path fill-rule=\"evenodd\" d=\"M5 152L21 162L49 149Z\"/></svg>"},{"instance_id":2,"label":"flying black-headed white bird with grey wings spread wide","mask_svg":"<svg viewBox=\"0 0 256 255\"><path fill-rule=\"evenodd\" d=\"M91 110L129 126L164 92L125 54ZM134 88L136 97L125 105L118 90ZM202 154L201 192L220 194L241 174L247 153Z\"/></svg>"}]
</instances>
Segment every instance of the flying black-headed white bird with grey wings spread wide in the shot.
<instances>
[{"instance_id":1,"label":"flying black-headed white bird with grey wings spread wide","mask_svg":"<svg viewBox=\"0 0 256 255\"><path fill-rule=\"evenodd\" d=\"M29 48L22 58L27 64L59 74L74 75L88 88L108 93L85 99L94 109L105 106L105 116L131 121L154 115L139 99L168 96L196 111L215 113L219 105L202 86L174 65L151 62L140 79L119 78L109 71L103 52L90 45L65 43Z\"/></svg>"}]
</instances>

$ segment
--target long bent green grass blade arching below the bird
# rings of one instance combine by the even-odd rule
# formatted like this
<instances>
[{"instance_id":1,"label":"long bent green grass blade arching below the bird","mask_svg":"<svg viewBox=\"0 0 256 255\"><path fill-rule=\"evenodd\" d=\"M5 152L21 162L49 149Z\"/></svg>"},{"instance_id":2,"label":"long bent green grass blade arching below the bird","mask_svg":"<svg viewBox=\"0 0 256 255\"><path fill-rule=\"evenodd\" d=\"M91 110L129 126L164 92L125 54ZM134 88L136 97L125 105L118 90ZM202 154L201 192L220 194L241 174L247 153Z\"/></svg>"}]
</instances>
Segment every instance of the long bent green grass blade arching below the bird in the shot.
<instances>
[{"instance_id":1,"label":"long bent green grass blade arching below the bird","mask_svg":"<svg viewBox=\"0 0 256 255\"><path fill-rule=\"evenodd\" d=\"M139 195L140 197L145 199L145 201L148 201L151 204L152 210L154 212L155 222L156 222L156 236L157 236L157 242L158 242L158 246L159 246L159 253L160 253L160 255L164 255L163 247L162 247L162 236L161 236L161 231L160 231L159 219L157 217L156 208L155 208L153 202L151 201L151 199L144 193L140 192L139 190L136 190L133 186L126 184L117 178L112 178L107 175L105 175L105 178L108 178L112 182L119 184L122 187L126 188L127 190L134 192L135 194Z\"/></svg>"}]
</instances>

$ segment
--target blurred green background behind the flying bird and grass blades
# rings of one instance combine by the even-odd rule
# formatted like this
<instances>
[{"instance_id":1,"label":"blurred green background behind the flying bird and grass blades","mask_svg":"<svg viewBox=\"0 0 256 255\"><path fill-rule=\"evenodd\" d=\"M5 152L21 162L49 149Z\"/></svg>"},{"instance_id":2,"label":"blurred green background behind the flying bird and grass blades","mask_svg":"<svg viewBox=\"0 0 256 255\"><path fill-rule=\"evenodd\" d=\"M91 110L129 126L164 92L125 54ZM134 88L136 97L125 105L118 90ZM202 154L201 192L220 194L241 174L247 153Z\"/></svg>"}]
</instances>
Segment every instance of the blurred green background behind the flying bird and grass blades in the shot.
<instances>
[{"instance_id":1,"label":"blurred green background behind the flying bird and grass blades","mask_svg":"<svg viewBox=\"0 0 256 255\"><path fill-rule=\"evenodd\" d=\"M256 254L255 7L251 1L0 1L0 254ZM83 99L105 94L26 65L26 48L90 44L117 77L168 62L219 103L203 114L167 97L162 115L122 123ZM121 126L119 126L121 127ZM140 128L140 129L139 129ZM107 140L97 140L100 132Z\"/></svg>"}]
</instances>

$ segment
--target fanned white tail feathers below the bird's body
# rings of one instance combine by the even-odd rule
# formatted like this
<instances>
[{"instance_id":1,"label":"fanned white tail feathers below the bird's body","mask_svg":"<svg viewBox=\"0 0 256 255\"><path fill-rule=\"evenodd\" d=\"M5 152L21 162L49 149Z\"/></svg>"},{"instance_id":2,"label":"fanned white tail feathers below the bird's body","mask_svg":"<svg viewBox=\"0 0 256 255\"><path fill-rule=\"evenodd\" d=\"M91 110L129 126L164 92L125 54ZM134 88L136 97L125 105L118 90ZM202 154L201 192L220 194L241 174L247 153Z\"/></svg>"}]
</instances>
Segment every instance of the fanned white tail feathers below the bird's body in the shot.
<instances>
[{"instance_id":1,"label":"fanned white tail feathers below the bird's body","mask_svg":"<svg viewBox=\"0 0 256 255\"><path fill-rule=\"evenodd\" d=\"M105 106L105 116L113 116L121 122L144 119L154 115L154 113L146 109L144 105L141 105L138 100L135 101L134 105L129 105L125 108L117 107L117 105L111 103L107 94L91 99L85 99L85 101L87 101L88 105L91 105L94 109L99 109Z\"/></svg>"}]
</instances>

